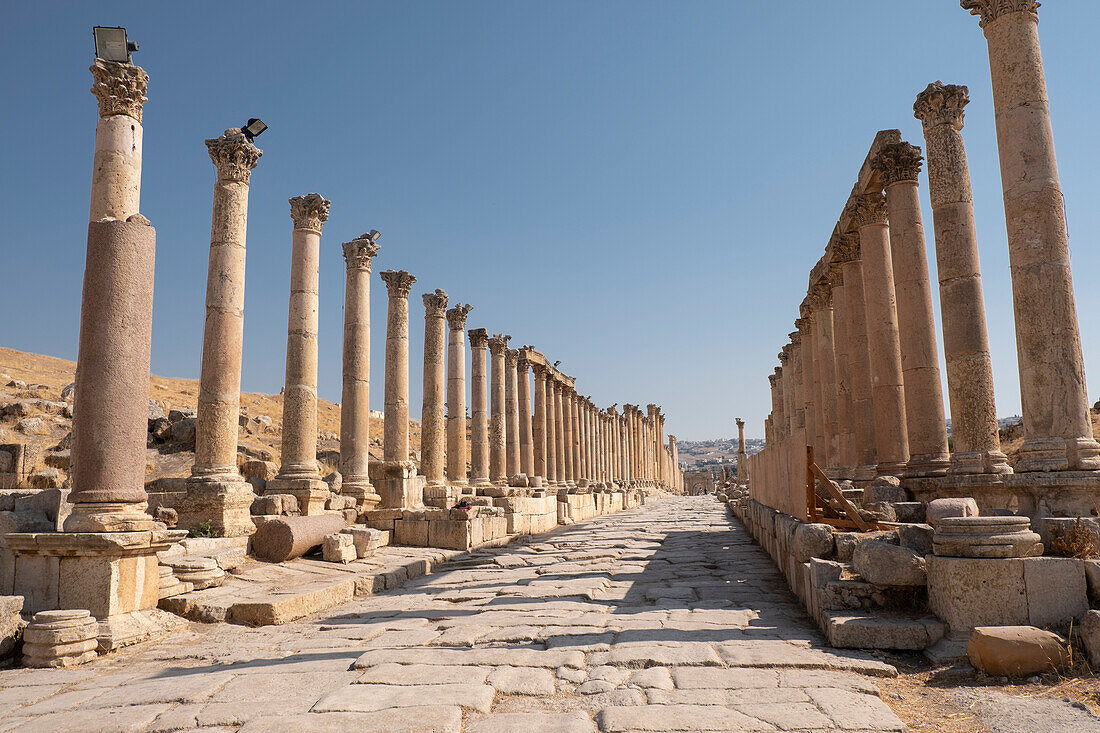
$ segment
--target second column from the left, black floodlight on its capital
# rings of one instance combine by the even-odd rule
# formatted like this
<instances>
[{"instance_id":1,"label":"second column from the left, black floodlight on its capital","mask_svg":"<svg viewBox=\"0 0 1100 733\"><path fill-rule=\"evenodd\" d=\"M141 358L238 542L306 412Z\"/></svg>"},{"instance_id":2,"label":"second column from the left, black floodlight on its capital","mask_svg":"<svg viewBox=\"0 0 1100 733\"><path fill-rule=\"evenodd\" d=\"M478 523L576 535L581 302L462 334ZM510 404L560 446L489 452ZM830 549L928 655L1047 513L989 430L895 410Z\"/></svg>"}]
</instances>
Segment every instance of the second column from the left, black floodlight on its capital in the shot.
<instances>
[{"instance_id":1,"label":"second column from the left, black floodlight on its capital","mask_svg":"<svg viewBox=\"0 0 1100 733\"><path fill-rule=\"evenodd\" d=\"M213 186L206 324L199 375L195 464L187 501L176 505L180 528L207 523L222 537L255 532L252 486L237 467L241 412L241 352L244 341L244 238L249 178L263 154L237 128L206 141L218 171Z\"/></svg>"}]
</instances>

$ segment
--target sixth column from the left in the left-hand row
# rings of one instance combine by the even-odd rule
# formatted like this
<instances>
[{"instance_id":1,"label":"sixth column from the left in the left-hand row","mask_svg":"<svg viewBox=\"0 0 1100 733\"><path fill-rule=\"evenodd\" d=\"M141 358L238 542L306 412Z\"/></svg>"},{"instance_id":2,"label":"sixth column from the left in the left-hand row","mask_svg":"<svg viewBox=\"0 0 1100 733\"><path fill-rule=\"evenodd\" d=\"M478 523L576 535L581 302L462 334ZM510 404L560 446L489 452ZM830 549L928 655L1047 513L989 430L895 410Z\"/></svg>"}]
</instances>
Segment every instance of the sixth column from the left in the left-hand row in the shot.
<instances>
[{"instance_id":1,"label":"sixth column from the left in the left-hand row","mask_svg":"<svg viewBox=\"0 0 1100 733\"><path fill-rule=\"evenodd\" d=\"M424 404L420 409L420 472L429 486L446 484L443 477L447 433L447 293L424 294ZM464 416L463 416L464 417ZM463 436L463 440L465 436ZM346 479L345 479L346 481Z\"/></svg>"}]
</instances>

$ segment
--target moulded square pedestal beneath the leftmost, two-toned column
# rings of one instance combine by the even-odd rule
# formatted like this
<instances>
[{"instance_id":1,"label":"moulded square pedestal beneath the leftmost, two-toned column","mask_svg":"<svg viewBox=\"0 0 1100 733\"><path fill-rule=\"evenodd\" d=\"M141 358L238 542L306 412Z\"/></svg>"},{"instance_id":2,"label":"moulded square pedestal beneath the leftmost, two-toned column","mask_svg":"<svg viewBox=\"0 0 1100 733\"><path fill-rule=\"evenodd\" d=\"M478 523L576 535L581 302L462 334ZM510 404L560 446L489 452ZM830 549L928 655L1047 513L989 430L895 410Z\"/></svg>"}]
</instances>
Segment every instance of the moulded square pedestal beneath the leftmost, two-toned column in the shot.
<instances>
[{"instance_id":1,"label":"moulded square pedestal beneath the leftmost, two-toned column","mask_svg":"<svg viewBox=\"0 0 1100 733\"><path fill-rule=\"evenodd\" d=\"M168 631L156 611L156 554L169 546L163 533L12 533L6 539L25 614L86 609L99 621L101 652Z\"/></svg>"}]
</instances>

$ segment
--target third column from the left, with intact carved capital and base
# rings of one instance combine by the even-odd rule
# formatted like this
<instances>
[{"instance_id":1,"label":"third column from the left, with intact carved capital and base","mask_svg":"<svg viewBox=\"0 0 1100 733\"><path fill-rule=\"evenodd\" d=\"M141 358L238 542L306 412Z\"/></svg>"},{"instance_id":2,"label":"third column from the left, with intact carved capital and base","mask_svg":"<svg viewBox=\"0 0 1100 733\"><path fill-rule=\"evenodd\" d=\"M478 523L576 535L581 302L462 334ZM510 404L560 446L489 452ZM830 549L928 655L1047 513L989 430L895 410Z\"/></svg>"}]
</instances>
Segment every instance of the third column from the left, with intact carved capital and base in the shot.
<instances>
[{"instance_id":1,"label":"third column from the left, with intact carved capital and base","mask_svg":"<svg viewBox=\"0 0 1100 733\"><path fill-rule=\"evenodd\" d=\"M283 463L264 493L294 494L306 515L320 514L329 496L317 467L317 302L321 228L329 203L320 194L290 199L294 219L290 316L283 387Z\"/></svg>"}]
</instances>

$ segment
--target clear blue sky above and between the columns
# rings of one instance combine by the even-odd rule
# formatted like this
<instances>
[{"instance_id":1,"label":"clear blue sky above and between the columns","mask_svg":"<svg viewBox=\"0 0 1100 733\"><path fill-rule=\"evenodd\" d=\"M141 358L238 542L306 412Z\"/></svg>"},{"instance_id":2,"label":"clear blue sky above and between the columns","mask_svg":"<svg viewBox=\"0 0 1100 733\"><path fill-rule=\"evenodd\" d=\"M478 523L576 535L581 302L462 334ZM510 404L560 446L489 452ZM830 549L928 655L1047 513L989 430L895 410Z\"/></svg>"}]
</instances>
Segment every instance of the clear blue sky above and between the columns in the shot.
<instances>
[{"instance_id":1,"label":"clear blue sky above and between the columns","mask_svg":"<svg viewBox=\"0 0 1100 733\"><path fill-rule=\"evenodd\" d=\"M1094 400L1100 3L1050 0L1040 14ZM957 0L42 0L9 3L4 21L0 346L76 358L91 26L125 25L151 77L142 212L157 228L157 374L199 371L215 177L202 141L261 117L245 390L283 385L287 198L318 192L332 201L321 396L340 398L340 244L373 228L375 273L418 278L414 415L420 294L442 287L474 304L471 328L560 359L601 405L659 403L685 439L735 435L737 415L760 436L767 374L876 131L923 146L913 100L942 79L970 87L964 136L998 412L1020 412L988 57ZM927 207L923 176L922 197ZM381 408L377 275L372 303Z\"/></svg>"}]
</instances>

